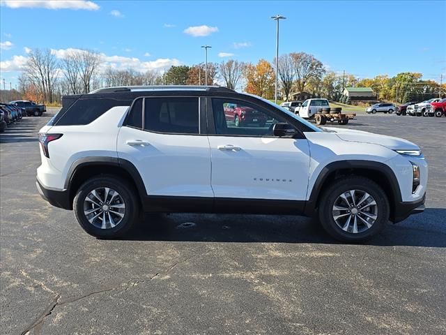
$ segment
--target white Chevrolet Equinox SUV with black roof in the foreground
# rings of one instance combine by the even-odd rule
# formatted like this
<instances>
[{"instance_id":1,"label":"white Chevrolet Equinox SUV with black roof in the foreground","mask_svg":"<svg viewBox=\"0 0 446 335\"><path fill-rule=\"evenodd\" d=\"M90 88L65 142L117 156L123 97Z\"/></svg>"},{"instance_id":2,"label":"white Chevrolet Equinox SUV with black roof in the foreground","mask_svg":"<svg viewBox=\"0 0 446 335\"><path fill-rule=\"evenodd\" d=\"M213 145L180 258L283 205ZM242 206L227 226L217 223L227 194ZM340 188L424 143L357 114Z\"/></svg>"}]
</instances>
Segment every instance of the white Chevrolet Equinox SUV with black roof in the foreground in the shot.
<instances>
[{"instance_id":1,"label":"white Chevrolet Equinox SUV with black roof in the foreground","mask_svg":"<svg viewBox=\"0 0 446 335\"><path fill-rule=\"evenodd\" d=\"M424 209L427 164L417 145L317 128L221 87L65 96L39 141L40 194L74 209L95 237L121 236L146 211L316 215L333 237L359 241Z\"/></svg>"}]
</instances>

